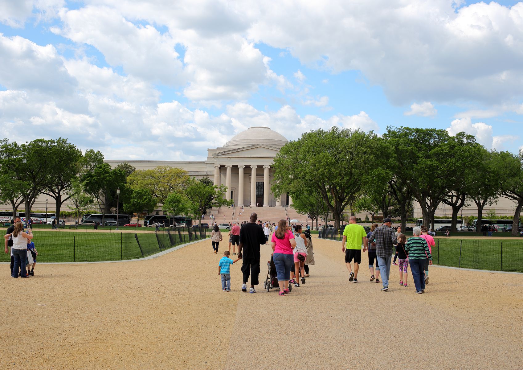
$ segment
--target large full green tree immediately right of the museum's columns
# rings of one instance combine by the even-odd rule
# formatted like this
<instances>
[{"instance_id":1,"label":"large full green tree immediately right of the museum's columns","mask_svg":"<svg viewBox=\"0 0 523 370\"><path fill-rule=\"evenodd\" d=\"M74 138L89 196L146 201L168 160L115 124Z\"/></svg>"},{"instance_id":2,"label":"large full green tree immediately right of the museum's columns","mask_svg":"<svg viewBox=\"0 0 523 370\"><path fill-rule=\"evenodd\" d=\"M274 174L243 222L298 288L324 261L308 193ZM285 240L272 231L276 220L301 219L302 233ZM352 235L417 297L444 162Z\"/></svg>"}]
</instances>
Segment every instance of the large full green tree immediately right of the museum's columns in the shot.
<instances>
[{"instance_id":1,"label":"large full green tree immediately right of the museum's columns","mask_svg":"<svg viewBox=\"0 0 523 370\"><path fill-rule=\"evenodd\" d=\"M302 134L281 148L274 159L274 194L296 192L299 186L317 190L339 229L343 210L369 181L375 134L333 127Z\"/></svg>"}]
</instances>

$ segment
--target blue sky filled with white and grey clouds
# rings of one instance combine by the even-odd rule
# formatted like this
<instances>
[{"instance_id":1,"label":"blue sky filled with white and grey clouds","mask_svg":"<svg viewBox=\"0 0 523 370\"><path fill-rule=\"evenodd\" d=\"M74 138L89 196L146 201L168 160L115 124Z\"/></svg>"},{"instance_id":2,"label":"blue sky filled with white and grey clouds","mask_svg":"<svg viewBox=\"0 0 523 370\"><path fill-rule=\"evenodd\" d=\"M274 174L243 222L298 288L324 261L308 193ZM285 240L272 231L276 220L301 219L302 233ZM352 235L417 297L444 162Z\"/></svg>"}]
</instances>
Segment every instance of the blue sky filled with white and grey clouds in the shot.
<instances>
[{"instance_id":1,"label":"blue sky filled with white and grey clouds","mask_svg":"<svg viewBox=\"0 0 523 370\"><path fill-rule=\"evenodd\" d=\"M1 0L0 133L201 160L251 126L523 145L523 3Z\"/></svg>"}]
</instances>

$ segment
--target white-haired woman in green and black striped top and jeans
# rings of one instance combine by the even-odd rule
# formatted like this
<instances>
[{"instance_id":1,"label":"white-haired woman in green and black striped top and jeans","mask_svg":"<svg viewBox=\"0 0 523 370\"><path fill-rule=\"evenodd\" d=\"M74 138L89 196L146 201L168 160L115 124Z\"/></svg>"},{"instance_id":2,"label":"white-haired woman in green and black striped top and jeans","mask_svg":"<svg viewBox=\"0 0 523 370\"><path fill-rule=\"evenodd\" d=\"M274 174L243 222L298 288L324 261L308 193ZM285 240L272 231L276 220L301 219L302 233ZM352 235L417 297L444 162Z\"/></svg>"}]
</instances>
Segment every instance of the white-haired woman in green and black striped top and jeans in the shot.
<instances>
[{"instance_id":1,"label":"white-haired woman in green and black striped top and jeans","mask_svg":"<svg viewBox=\"0 0 523 370\"><path fill-rule=\"evenodd\" d=\"M412 233L414 237L407 240L405 252L408 254L408 262L411 265L416 293L422 294L425 291L425 261L428 259L431 265L432 255L430 254L427 241L419 237L422 230L419 227L415 227Z\"/></svg>"}]
</instances>

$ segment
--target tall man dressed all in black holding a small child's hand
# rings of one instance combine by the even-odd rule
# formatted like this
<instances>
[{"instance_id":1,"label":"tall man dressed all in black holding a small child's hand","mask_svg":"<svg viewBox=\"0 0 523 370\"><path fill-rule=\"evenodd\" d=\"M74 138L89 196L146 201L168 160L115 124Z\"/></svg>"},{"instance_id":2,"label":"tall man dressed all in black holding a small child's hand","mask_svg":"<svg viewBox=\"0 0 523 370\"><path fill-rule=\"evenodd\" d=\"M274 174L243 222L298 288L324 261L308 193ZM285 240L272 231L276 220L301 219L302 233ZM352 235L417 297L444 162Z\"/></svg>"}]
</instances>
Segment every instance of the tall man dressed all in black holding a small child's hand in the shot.
<instances>
[{"instance_id":1,"label":"tall man dressed all in black holding a small child's hand","mask_svg":"<svg viewBox=\"0 0 523 370\"><path fill-rule=\"evenodd\" d=\"M260 244L265 244L265 234L263 228L256 225L258 215L251 214L250 221L245 223L240 229L240 246L238 247L238 257L243 259L242 291L247 291L247 281L251 275L251 289L249 293L256 293L255 285L258 285L258 275L260 273ZM243 253L242 253L243 251Z\"/></svg>"}]
</instances>

